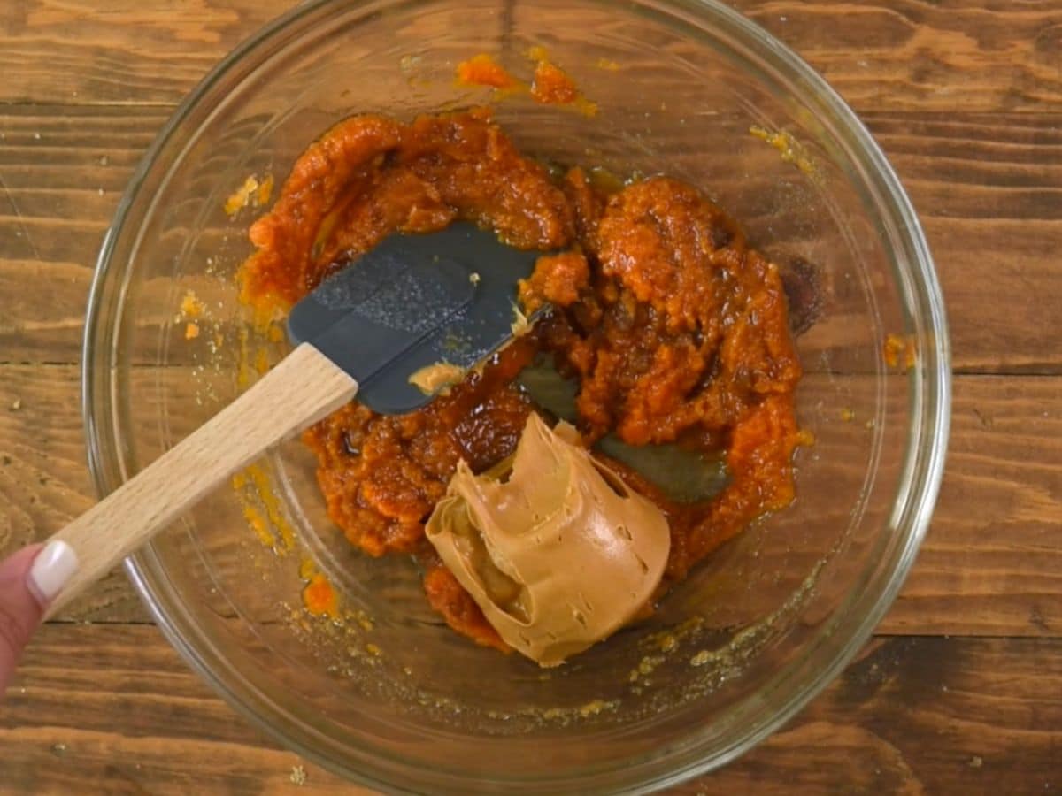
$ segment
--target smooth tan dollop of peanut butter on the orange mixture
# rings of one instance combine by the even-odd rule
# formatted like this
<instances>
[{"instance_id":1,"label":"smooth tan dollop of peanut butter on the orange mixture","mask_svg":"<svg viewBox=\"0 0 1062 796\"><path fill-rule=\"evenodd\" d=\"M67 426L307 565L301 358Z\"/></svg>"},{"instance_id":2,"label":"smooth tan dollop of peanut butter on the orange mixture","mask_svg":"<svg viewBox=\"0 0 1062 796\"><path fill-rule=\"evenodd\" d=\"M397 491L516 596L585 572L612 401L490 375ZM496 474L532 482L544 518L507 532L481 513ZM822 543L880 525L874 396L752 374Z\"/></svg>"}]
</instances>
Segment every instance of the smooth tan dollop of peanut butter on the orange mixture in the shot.
<instances>
[{"instance_id":1,"label":"smooth tan dollop of peanut butter on the orange mixture","mask_svg":"<svg viewBox=\"0 0 1062 796\"><path fill-rule=\"evenodd\" d=\"M629 622L670 548L660 508L534 413L509 460L481 475L458 465L427 536L501 638L544 667Z\"/></svg>"}]
</instances>

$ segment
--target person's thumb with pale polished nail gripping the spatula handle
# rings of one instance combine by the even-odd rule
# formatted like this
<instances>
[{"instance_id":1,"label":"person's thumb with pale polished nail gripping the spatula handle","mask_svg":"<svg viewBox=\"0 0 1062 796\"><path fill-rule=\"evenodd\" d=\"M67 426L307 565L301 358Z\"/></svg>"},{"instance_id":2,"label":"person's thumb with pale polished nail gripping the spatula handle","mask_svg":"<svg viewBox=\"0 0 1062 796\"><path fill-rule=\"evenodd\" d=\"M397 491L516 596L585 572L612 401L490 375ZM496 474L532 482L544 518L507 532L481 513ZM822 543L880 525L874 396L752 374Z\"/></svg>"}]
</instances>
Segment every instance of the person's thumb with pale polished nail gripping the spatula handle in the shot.
<instances>
[{"instance_id":1,"label":"person's thumb with pale polished nail gripping the spatula handle","mask_svg":"<svg viewBox=\"0 0 1062 796\"><path fill-rule=\"evenodd\" d=\"M76 570L65 541L31 544L0 561L0 699L48 605Z\"/></svg>"}]
</instances>

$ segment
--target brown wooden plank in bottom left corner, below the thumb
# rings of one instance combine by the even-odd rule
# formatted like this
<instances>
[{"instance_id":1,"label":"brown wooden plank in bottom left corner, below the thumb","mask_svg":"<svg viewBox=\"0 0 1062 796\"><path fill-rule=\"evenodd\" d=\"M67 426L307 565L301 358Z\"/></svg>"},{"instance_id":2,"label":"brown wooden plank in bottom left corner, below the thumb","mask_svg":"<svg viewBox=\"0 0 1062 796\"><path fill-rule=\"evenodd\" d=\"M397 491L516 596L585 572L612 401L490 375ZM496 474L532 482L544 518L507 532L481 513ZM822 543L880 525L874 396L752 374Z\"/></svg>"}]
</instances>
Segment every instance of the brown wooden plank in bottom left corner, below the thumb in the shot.
<instances>
[{"instance_id":1,"label":"brown wooden plank in bottom left corner, below the thumb","mask_svg":"<svg viewBox=\"0 0 1062 796\"><path fill-rule=\"evenodd\" d=\"M104 685L108 682L109 685ZM48 625L0 709L0 793L363 793L213 696L151 626Z\"/></svg>"}]
</instances>

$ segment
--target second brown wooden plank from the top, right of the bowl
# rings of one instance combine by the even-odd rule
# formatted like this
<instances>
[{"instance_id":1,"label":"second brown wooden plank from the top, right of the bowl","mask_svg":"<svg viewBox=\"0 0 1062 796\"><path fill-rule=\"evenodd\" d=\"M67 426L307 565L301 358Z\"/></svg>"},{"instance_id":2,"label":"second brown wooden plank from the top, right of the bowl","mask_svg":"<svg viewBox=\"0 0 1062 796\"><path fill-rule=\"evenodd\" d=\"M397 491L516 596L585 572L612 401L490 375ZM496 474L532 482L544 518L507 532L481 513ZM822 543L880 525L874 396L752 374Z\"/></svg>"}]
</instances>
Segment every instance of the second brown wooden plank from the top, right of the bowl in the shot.
<instances>
[{"instance_id":1,"label":"second brown wooden plank from the top, right of the bowl","mask_svg":"<svg viewBox=\"0 0 1062 796\"><path fill-rule=\"evenodd\" d=\"M1058 373L1062 115L892 115L866 121L925 227L959 373ZM1022 308L1020 323L999 304Z\"/></svg>"}]
</instances>

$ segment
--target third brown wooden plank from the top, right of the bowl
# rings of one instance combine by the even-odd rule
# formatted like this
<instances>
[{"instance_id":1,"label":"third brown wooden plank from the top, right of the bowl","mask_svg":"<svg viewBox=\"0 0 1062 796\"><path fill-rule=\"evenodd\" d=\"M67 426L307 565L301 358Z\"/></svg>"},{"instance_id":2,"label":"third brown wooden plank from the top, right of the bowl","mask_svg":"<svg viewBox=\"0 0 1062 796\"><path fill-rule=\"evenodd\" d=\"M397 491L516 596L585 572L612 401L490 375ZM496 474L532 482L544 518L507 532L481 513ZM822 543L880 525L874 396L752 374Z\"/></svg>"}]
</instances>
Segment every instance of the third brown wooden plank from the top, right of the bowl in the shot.
<instances>
[{"instance_id":1,"label":"third brown wooden plank from the top, right of the bowl","mask_svg":"<svg viewBox=\"0 0 1062 796\"><path fill-rule=\"evenodd\" d=\"M1062 635L1060 518L1062 380L958 377L937 511L883 631Z\"/></svg>"}]
</instances>

